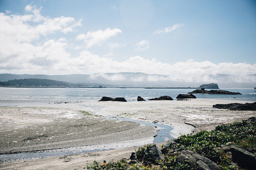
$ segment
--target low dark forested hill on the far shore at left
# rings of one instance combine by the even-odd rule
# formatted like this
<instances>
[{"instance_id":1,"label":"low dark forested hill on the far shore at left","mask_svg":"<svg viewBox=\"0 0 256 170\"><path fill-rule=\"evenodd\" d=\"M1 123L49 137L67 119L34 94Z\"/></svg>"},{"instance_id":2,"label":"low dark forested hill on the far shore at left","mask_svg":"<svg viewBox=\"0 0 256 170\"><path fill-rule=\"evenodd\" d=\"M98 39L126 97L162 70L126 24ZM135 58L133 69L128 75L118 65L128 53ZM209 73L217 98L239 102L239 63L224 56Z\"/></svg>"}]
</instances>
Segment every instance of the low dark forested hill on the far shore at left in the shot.
<instances>
[{"instance_id":1,"label":"low dark forested hill on the far shore at left","mask_svg":"<svg viewBox=\"0 0 256 170\"><path fill-rule=\"evenodd\" d=\"M5 82L0 82L0 86L9 86L9 85L19 85L19 86L66 86L70 85L70 83L64 81L56 81L49 79L41 79L41 78L26 78L26 79L14 79L8 80Z\"/></svg>"}]
</instances>

